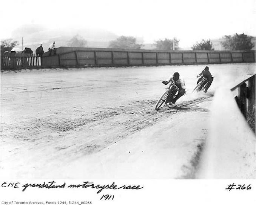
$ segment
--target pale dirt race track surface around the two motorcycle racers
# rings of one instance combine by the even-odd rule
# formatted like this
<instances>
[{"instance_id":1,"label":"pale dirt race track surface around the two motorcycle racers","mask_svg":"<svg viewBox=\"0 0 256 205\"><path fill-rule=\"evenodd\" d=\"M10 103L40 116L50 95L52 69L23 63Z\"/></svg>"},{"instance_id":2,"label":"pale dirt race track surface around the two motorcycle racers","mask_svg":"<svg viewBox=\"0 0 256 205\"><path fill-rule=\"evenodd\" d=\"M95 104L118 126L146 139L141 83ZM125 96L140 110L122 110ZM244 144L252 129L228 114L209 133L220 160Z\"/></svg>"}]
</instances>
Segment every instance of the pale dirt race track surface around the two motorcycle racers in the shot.
<instances>
[{"instance_id":1,"label":"pale dirt race track surface around the two motorcycle racers","mask_svg":"<svg viewBox=\"0 0 256 205\"><path fill-rule=\"evenodd\" d=\"M225 74L224 80L233 82L237 80L237 73L254 72L254 66L210 65L213 85L207 94L196 95L192 95L191 90L204 66L2 72L0 174L39 179L193 178L184 167L191 171L198 145L207 137L211 99L223 80L219 73ZM165 88L161 81L176 71L186 82L187 95L180 98L176 106L155 111L154 105ZM184 128L189 128L185 134ZM155 133L158 129L159 134ZM160 129L166 133L160 133ZM168 133L175 135L168 138ZM168 153L171 148L166 145L175 143L174 149L180 151L181 158L174 155L172 158ZM148 175L145 170L135 171L141 164L139 158L147 165L155 164ZM137 167L130 170L131 175L117 170L118 165L107 174L104 171L119 162L125 167L125 161ZM105 168L99 171L102 166ZM156 167L165 169L165 174L159 175ZM84 171L77 171L81 169Z\"/></svg>"}]
</instances>

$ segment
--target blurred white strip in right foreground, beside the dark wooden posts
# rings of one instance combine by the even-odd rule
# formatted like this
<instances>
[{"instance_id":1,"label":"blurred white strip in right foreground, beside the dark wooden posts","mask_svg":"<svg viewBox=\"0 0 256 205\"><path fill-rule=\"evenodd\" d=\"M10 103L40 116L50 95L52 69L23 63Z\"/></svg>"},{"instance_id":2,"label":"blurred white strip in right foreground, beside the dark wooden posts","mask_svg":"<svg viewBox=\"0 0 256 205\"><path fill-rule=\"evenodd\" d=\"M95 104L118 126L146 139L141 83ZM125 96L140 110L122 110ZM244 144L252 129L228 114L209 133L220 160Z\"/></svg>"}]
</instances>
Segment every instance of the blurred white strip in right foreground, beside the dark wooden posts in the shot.
<instances>
[{"instance_id":1,"label":"blurred white strip in right foreground, beside the dark wooden posts","mask_svg":"<svg viewBox=\"0 0 256 205\"><path fill-rule=\"evenodd\" d=\"M196 178L255 179L255 133L230 89L214 92L209 122Z\"/></svg>"}]
</instances>

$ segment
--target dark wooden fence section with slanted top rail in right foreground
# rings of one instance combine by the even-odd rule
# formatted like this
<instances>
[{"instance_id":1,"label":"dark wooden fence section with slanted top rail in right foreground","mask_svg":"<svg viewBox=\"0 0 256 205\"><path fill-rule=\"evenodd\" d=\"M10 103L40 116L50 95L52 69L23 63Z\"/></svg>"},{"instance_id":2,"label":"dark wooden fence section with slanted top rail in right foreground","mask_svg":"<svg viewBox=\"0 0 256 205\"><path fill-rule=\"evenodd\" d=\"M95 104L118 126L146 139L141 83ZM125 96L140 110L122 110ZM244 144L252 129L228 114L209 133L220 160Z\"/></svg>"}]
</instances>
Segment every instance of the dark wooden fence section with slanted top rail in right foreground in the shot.
<instances>
[{"instance_id":1,"label":"dark wooden fence section with slanted top rail in right foreground","mask_svg":"<svg viewBox=\"0 0 256 205\"><path fill-rule=\"evenodd\" d=\"M231 91L237 92L236 103L255 132L255 75L245 79Z\"/></svg>"}]
</instances>

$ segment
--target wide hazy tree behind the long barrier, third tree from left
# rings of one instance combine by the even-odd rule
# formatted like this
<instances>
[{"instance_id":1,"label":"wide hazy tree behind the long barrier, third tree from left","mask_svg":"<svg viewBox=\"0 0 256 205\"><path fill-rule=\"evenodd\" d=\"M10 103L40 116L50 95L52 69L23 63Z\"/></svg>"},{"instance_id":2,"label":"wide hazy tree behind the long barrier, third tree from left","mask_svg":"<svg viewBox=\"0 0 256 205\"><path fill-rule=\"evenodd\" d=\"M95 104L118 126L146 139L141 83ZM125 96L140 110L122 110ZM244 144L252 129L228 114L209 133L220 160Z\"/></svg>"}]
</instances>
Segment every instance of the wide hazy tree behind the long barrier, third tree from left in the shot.
<instances>
[{"instance_id":1,"label":"wide hazy tree behind the long barrier, third tree from left","mask_svg":"<svg viewBox=\"0 0 256 205\"><path fill-rule=\"evenodd\" d=\"M136 38L132 36L120 36L116 40L110 41L109 48L140 49L143 44L136 43Z\"/></svg>"}]
</instances>

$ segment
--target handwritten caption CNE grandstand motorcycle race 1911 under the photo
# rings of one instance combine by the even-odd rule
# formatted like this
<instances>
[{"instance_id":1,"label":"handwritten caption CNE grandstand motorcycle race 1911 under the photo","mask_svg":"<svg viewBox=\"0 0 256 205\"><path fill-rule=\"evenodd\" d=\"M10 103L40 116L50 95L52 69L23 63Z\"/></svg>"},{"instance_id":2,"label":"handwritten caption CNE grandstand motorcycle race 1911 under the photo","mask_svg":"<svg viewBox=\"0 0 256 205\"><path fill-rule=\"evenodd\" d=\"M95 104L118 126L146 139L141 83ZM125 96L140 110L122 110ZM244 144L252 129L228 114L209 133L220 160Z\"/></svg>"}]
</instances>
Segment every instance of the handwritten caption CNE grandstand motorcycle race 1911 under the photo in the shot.
<instances>
[{"instance_id":1,"label":"handwritten caption CNE grandstand motorcycle race 1911 under the photo","mask_svg":"<svg viewBox=\"0 0 256 205\"><path fill-rule=\"evenodd\" d=\"M3 182L1 184L2 188L20 188L20 182ZM105 185L100 185L100 184L94 184L93 182L83 182L82 184L69 184L66 185L66 182L64 182L63 184L56 184L55 181L51 181L51 182L43 182L42 184L23 184L22 185L22 191L26 191L27 189L29 189L30 187L32 188L46 188L46 189L51 189L51 188L92 188L92 189L96 189L97 190L97 194L99 194L102 190L105 189L109 189L109 190L140 190L144 187L142 187L141 185L116 185L115 182L113 182L111 185L109 184L105 184ZM113 200L114 199L114 195L109 195L109 194L103 194L100 198L100 200ZM8 205L6 203L2 203L5 205ZM61 203L59 203L61 204ZM63 203L63 204L67 204L67 203ZM69 203L69 204L76 204L76 203ZM88 203L78 203L78 204L88 204ZM9 204L10 205L10 204Z\"/></svg>"}]
</instances>

